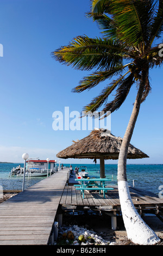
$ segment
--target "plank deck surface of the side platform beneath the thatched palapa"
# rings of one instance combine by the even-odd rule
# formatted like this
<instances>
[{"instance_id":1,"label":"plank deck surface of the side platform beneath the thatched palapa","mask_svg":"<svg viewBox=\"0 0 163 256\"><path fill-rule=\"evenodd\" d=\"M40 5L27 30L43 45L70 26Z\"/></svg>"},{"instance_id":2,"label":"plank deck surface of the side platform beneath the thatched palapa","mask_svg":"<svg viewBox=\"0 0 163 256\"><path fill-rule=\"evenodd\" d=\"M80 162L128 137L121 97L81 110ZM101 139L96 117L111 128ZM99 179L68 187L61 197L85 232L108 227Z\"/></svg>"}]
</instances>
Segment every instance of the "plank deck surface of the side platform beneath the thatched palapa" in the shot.
<instances>
[{"instance_id":1,"label":"plank deck surface of the side platform beneath the thatched palapa","mask_svg":"<svg viewBox=\"0 0 163 256\"><path fill-rule=\"evenodd\" d=\"M163 199L156 197L149 191L139 190L135 187L129 187L131 198L135 206L143 206L144 208L156 205L163 208ZM74 186L66 186L64 193L62 194L60 204L64 202L65 205L73 206L90 206L91 208L96 206L111 206L112 209L120 210L120 199L118 196L118 188L114 186L113 191L108 191L103 198L103 194L99 192L86 192L83 199L79 190L76 190Z\"/></svg>"}]
</instances>

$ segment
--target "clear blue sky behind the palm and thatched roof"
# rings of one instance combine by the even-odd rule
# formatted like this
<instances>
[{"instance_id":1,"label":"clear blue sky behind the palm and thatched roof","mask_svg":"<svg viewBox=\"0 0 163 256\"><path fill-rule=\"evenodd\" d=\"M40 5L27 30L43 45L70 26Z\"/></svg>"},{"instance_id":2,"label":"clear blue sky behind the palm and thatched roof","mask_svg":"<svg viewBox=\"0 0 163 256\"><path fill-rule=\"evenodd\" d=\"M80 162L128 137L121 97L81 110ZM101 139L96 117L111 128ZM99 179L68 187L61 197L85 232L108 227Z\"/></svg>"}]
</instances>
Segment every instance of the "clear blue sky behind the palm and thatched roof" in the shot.
<instances>
[{"instance_id":1,"label":"clear blue sky behind the palm and thatched roof","mask_svg":"<svg viewBox=\"0 0 163 256\"><path fill-rule=\"evenodd\" d=\"M89 0L1 0L0 161L22 162L25 152L30 157L56 159L56 154L71 145L73 139L89 135L90 131L82 130L54 131L52 114L64 113L65 106L70 112L81 112L101 86L82 94L72 93L72 88L90 72L74 70L51 57L52 51L77 35L101 35L96 23L85 17L89 8ZM163 162L162 69L152 70L150 76L152 93L141 105L131 138L131 144L149 159L128 163ZM111 132L115 136L123 137L135 96L134 86L123 106L111 114ZM62 162L70 161L79 162Z\"/></svg>"}]
</instances>

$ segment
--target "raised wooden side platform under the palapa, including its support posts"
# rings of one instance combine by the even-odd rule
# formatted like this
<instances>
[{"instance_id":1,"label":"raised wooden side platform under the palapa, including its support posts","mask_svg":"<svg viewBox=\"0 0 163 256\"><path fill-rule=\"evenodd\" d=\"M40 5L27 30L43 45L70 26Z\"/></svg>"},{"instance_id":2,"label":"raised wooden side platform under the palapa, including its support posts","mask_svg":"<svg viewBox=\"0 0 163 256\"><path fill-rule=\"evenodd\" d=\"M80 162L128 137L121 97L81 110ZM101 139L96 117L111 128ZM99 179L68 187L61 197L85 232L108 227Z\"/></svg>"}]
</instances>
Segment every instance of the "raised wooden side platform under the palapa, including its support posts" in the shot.
<instances>
[{"instance_id":1,"label":"raised wooden side platform under the palapa, including its support posts","mask_svg":"<svg viewBox=\"0 0 163 256\"><path fill-rule=\"evenodd\" d=\"M106 214L111 217L111 229L117 229L117 215L121 215L121 205L118 196L117 186L114 190L103 194L97 192L85 191L84 199L79 190L74 186L65 186L62 194L60 205L64 211L94 211L99 212L99 215ZM148 191L139 190L135 187L129 187L131 199L139 214L152 213L160 217L163 221L163 199L155 196L155 194Z\"/></svg>"}]
</instances>

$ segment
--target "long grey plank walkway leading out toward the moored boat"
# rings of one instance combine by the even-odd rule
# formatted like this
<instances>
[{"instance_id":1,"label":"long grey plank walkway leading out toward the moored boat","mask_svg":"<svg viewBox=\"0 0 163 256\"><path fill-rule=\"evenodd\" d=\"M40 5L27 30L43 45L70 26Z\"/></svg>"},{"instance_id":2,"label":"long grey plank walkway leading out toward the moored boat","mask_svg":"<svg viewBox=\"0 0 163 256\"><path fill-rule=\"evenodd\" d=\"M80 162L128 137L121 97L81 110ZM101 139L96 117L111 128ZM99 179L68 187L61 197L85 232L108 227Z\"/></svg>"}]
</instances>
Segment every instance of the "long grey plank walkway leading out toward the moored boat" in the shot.
<instances>
[{"instance_id":1,"label":"long grey plank walkway leading out toward the moored boat","mask_svg":"<svg viewBox=\"0 0 163 256\"><path fill-rule=\"evenodd\" d=\"M67 169L0 204L0 245L47 245Z\"/></svg>"}]
</instances>

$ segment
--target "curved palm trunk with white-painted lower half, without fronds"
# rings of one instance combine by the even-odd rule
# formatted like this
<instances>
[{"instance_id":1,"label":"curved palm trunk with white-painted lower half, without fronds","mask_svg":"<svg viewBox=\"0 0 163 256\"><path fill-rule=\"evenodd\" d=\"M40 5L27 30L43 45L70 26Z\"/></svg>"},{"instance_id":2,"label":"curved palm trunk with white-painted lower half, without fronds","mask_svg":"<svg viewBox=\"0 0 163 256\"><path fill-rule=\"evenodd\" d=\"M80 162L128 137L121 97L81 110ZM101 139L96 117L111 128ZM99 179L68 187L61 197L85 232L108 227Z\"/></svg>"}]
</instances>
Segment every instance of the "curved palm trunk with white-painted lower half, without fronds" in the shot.
<instances>
[{"instance_id":1,"label":"curved palm trunk with white-painted lower half, without fronds","mask_svg":"<svg viewBox=\"0 0 163 256\"><path fill-rule=\"evenodd\" d=\"M136 211L130 197L126 174L128 147L131 136L133 135L137 115L139 114L146 75L147 71L145 74L142 74L142 81L140 83L139 91L137 92L133 112L131 113L118 157L118 192L123 222L127 231L128 239L139 245L154 245L155 243L159 242L160 239L158 236L156 236L154 231L148 227L148 225L142 220Z\"/></svg>"}]
</instances>

